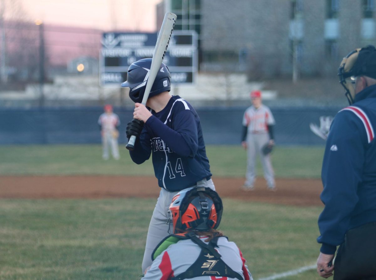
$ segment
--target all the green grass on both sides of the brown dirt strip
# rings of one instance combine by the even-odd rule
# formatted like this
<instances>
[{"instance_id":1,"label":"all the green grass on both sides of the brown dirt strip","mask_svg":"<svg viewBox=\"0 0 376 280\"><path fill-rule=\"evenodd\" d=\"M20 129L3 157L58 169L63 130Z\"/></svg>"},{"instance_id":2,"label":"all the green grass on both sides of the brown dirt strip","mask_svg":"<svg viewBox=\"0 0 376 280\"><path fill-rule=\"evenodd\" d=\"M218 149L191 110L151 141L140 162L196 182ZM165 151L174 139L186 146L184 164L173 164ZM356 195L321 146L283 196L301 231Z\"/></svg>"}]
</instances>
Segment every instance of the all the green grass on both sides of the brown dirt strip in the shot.
<instances>
[{"instance_id":1,"label":"all the green grass on both sides of the brown dirt strip","mask_svg":"<svg viewBox=\"0 0 376 280\"><path fill-rule=\"evenodd\" d=\"M238 146L208 146L215 176L244 177ZM151 163L103 161L99 145L0 146L0 175L152 175ZM323 147L279 147L277 177L319 178ZM258 173L261 174L258 167ZM0 178L1 180L1 178ZM1 199L0 279L138 279L156 199ZM255 280L313 265L322 207L224 199L220 226ZM315 270L284 280L319 279Z\"/></svg>"}]
</instances>

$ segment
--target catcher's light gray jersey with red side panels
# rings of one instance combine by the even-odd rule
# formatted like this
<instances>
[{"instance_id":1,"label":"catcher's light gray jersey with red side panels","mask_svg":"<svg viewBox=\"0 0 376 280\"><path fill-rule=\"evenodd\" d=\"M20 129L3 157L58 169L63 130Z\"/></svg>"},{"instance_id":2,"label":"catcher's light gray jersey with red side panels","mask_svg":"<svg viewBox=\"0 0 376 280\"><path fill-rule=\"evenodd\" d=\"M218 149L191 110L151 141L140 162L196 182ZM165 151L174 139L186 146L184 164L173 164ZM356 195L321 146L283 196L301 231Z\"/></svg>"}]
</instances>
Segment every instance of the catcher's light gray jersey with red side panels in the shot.
<instances>
[{"instance_id":1,"label":"catcher's light gray jersey with red side panels","mask_svg":"<svg viewBox=\"0 0 376 280\"><path fill-rule=\"evenodd\" d=\"M205 242L207 237L201 237L200 239ZM207 244L208 242L205 243ZM245 264L246 260L243 258L241 251L234 242L228 241L226 237L220 237L218 238L217 245L219 248L215 247L215 250L221 254L221 259L230 266L233 271L238 272L244 280L253 280L252 275ZM179 240L177 243L170 245L165 251L156 257L152 266L141 280L169 280L171 277L178 276L185 272L197 260L201 249L202 248L199 247L199 245L190 239ZM211 263L210 257L211 256L208 256L208 262L203 263L203 265L209 266ZM215 269L215 266L213 266L212 269ZM237 280L236 278L216 278L215 276L200 276L190 279Z\"/></svg>"}]
</instances>

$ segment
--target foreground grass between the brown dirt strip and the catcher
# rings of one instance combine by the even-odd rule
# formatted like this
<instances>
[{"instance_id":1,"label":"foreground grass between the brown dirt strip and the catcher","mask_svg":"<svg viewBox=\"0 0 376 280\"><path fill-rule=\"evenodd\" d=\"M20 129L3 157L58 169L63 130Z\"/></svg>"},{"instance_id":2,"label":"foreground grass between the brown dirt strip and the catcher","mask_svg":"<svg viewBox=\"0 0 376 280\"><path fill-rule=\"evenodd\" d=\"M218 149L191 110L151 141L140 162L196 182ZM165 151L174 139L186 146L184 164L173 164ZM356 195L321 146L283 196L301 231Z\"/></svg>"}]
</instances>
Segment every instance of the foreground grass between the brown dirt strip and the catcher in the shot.
<instances>
[{"instance_id":1,"label":"foreground grass between the brown dirt strip and the catcher","mask_svg":"<svg viewBox=\"0 0 376 280\"><path fill-rule=\"evenodd\" d=\"M138 279L155 199L3 199L0 279ZM315 263L321 207L224 199L255 280ZM296 279L318 279L314 271ZM293 279L293 278L284 278Z\"/></svg>"}]
</instances>

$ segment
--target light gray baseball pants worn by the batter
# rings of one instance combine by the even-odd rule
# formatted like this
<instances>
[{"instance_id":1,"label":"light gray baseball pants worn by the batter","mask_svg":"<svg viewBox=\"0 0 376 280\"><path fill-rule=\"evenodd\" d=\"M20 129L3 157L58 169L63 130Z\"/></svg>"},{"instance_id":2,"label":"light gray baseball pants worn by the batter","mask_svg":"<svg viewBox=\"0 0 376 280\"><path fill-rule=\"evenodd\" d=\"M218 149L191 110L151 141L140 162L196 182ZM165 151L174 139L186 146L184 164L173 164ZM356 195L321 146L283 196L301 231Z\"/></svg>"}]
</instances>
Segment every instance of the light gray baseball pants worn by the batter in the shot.
<instances>
[{"instance_id":1,"label":"light gray baseball pants worn by the batter","mask_svg":"<svg viewBox=\"0 0 376 280\"><path fill-rule=\"evenodd\" d=\"M192 187L209 187L212 190L215 190L213 181L211 179L206 181L206 178L198 181L197 184ZM152 253L155 247L169 234L168 230L170 225L167 224L167 211L172 198L177 193L178 192L169 192L163 188L161 188L161 192L159 192L157 204L155 205L152 219L149 224L149 230L147 231L145 253L142 262L143 273L146 268L152 265ZM173 233L172 231L173 229L171 227L170 232Z\"/></svg>"}]
</instances>

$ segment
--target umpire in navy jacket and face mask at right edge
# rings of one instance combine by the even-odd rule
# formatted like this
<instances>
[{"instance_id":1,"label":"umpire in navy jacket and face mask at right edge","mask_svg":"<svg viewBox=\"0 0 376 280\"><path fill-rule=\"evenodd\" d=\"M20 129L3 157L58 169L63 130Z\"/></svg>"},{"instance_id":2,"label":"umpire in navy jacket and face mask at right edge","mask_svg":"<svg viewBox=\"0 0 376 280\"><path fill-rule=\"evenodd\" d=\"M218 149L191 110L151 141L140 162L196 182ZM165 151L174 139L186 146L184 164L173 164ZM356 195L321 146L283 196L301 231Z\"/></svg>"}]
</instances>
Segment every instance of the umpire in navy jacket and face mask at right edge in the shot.
<instances>
[{"instance_id":1,"label":"umpire in navy jacket and face mask at right edge","mask_svg":"<svg viewBox=\"0 0 376 280\"><path fill-rule=\"evenodd\" d=\"M335 116L326 142L317 272L328 278L334 271L334 280L376 279L375 47L350 52L338 75L350 106Z\"/></svg>"}]
</instances>

